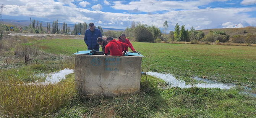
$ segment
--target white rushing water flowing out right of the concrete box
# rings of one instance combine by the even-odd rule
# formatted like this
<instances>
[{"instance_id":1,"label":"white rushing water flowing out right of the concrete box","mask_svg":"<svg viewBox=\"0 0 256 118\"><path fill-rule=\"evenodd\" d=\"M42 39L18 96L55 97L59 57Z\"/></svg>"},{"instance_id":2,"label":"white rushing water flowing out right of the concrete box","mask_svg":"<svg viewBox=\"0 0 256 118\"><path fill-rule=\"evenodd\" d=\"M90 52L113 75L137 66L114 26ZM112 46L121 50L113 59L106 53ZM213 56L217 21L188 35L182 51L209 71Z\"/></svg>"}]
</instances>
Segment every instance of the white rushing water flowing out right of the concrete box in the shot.
<instances>
[{"instance_id":1,"label":"white rushing water flowing out right of the concrete box","mask_svg":"<svg viewBox=\"0 0 256 118\"><path fill-rule=\"evenodd\" d=\"M171 87L179 87L179 88L191 88L192 85L186 85L185 81L183 80L177 80L173 77L171 74L161 74L157 72L147 72L147 75L151 75L156 78L160 78L164 80L166 83L168 83ZM230 89L235 87L234 85L225 85L223 83L216 83L211 80L202 79L195 77L195 80L203 81L204 83L195 84L193 86L198 88L220 88L220 89Z\"/></svg>"}]
</instances>

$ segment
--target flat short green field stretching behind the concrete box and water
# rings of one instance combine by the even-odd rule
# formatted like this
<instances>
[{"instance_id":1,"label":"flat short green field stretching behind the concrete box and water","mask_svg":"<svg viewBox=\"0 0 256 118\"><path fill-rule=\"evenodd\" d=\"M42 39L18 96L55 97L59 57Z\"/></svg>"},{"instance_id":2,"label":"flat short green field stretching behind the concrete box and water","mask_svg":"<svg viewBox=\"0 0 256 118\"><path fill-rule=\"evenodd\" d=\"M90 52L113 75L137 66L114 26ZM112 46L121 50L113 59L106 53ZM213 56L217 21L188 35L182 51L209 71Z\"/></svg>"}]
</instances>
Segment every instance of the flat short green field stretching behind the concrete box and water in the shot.
<instances>
[{"instance_id":1,"label":"flat short green field stretching behind the concrete box and water","mask_svg":"<svg viewBox=\"0 0 256 118\"><path fill-rule=\"evenodd\" d=\"M54 54L71 55L77 50L87 50L83 40L41 40L36 44ZM205 76L249 87L256 84L256 47L141 42L133 42L133 46L145 56L142 61L145 72L172 73L184 79Z\"/></svg>"}]
</instances>

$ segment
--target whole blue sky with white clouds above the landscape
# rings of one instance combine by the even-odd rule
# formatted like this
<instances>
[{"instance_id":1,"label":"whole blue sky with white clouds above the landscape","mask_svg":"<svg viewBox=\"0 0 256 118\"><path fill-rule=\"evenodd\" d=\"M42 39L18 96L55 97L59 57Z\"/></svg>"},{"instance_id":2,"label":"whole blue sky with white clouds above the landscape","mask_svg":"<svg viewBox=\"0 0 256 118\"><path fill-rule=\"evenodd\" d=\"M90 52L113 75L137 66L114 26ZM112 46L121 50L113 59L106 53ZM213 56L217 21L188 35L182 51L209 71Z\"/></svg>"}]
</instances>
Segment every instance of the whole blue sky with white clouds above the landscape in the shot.
<instances>
[{"instance_id":1,"label":"whole blue sky with white clouds above the landscape","mask_svg":"<svg viewBox=\"0 0 256 118\"><path fill-rule=\"evenodd\" d=\"M141 22L168 30L256 26L256 0L2 0L3 19L56 21L126 29ZM235 27L233 27L235 26Z\"/></svg>"}]
</instances>

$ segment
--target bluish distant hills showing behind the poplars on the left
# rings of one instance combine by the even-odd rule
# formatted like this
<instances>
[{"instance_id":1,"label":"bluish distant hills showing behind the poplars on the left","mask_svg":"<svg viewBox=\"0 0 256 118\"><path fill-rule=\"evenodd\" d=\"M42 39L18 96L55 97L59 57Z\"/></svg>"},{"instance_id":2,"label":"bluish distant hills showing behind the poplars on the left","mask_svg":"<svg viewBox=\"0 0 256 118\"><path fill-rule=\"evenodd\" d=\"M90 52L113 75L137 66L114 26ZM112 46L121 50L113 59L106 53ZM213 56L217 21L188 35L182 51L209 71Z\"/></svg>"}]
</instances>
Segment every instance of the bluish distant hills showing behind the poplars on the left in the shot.
<instances>
[{"instance_id":1,"label":"bluish distant hills showing behind the poplars on the left","mask_svg":"<svg viewBox=\"0 0 256 118\"><path fill-rule=\"evenodd\" d=\"M42 22L42 27L47 27L47 22L45 21L38 21L39 24ZM37 21L36 21L37 23ZM52 27L52 22L48 22L51 24ZM12 20L12 19L3 19L3 24L8 24L8 25L15 25L16 27L25 27L30 25L30 20ZM63 23L60 23L60 27L62 27ZM71 30L74 29L74 24L68 24L68 27L70 27ZM46 29L46 28L44 28ZM115 28L105 28L102 27L103 32L107 32L108 30L113 30L113 31L125 31L124 29L115 29Z\"/></svg>"}]
</instances>

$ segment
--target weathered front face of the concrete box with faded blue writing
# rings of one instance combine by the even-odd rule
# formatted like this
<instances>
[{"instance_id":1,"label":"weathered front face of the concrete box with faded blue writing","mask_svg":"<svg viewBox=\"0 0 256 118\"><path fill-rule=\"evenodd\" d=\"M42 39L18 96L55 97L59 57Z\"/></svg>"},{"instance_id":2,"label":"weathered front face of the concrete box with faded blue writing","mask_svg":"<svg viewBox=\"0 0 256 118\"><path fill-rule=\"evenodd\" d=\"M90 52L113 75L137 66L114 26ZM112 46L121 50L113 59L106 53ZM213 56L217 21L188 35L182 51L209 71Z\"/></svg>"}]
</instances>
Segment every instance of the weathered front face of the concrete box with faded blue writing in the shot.
<instances>
[{"instance_id":1,"label":"weathered front face of the concrete box with faded blue writing","mask_svg":"<svg viewBox=\"0 0 256 118\"><path fill-rule=\"evenodd\" d=\"M104 96L138 92L141 58L76 54L75 87L81 94Z\"/></svg>"}]
</instances>

